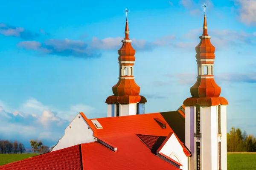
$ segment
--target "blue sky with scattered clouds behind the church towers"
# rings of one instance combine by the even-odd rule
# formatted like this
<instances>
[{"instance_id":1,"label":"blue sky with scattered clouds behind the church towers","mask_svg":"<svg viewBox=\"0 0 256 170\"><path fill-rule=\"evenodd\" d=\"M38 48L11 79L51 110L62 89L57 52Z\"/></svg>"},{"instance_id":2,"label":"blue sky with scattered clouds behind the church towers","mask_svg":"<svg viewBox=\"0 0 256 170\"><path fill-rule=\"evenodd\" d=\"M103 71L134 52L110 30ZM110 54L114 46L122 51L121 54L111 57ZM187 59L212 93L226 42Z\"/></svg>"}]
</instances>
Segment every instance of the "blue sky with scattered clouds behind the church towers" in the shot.
<instances>
[{"instance_id":1,"label":"blue sky with scattered clouds behind the church towers","mask_svg":"<svg viewBox=\"0 0 256 170\"><path fill-rule=\"evenodd\" d=\"M204 3L228 130L256 135L255 0L9 0L0 10L0 139L54 145L77 113L107 116L125 8L146 113L177 110L196 82Z\"/></svg>"}]
</instances>

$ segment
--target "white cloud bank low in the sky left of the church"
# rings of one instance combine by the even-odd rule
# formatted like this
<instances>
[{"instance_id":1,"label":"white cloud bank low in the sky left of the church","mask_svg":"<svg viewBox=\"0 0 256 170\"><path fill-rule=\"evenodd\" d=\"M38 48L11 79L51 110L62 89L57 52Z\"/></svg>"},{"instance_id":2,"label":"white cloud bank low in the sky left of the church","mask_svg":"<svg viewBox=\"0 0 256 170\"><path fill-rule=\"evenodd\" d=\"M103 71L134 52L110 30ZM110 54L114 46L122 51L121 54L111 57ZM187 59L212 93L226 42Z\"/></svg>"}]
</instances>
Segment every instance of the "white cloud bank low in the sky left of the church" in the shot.
<instances>
[{"instance_id":1,"label":"white cloud bank low in the sky left of the church","mask_svg":"<svg viewBox=\"0 0 256 170\"><path fill-rule=\"evenodd\" d=\"M1 102L3 106L6 106ZM64 129L79 113L91 115L95 112L88 105L71 105L67 111L47 106L34 98L24 102L20 109L6 111L0 106L0 139L20 140L26 146L30 139L44 139L48 145L56 144Z\"/></svg>"}]
</instances>

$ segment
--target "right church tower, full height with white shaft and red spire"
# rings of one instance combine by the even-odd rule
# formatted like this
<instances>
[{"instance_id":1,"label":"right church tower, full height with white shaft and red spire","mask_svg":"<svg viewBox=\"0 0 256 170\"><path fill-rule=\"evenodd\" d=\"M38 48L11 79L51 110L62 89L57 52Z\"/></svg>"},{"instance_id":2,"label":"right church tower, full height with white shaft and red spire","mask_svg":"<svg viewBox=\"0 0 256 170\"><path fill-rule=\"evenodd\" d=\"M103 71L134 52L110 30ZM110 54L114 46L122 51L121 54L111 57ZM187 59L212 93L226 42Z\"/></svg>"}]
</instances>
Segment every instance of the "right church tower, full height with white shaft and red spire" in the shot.
<instances>
[{"instance_id":1,"label":"right church tower, full height with white shaft and red spire","mask_svg":"<svg viewBox=\"0 0 256 170\"><path fill-rule=\"evenodd\" d=\"M204 6L205 7L205 6ZM227 170L227 105L214 81L215 47L207 34L204 14L203 35L195 48L197 82L185 105L186 147L191 151L190 170Z\"/></svg>"}]
</instances>

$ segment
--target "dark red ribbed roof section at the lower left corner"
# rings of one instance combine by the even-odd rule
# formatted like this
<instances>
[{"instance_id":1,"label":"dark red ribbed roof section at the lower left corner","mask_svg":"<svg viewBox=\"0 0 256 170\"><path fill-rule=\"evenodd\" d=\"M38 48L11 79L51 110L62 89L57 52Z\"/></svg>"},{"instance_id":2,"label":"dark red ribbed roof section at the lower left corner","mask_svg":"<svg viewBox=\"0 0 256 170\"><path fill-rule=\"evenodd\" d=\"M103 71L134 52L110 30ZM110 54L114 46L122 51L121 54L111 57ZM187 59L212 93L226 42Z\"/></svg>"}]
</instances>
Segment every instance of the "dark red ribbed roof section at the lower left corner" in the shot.
<instances>
[{"instance_id":1,"label":"dark red ribbed roof section at the lower left corner","mask_svg":"<svg viewBox=\"0 0 256 170\"><path fill-rule=\"evenodd\" d=\"M80 145L6 164L0 170L82 170Z\"/></svg>"}]
</instances>

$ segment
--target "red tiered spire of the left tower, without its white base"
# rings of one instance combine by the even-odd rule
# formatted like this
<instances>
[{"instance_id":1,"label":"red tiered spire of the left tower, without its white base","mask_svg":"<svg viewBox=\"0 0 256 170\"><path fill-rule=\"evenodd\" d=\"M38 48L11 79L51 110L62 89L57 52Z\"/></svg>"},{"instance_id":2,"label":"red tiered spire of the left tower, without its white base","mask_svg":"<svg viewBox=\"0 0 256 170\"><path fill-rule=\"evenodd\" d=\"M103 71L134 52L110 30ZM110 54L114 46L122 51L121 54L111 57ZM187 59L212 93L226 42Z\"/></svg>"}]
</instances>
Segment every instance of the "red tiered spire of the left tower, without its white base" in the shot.
<instances>
[{"instance_id":1,"label":"red tiered spire of the left tower, without its white base","mask_svg":"<svg viewBox=\"0 0 256 170\"><path fill-rule=\"evenodd\" d=\"M106 103L145 103L147 100L140 94L140 86L136 84L133 76L133 66L135 61L135 50L131 46L129 39L128 20L126 18L125 24L125 39L122 40L122 47L118 50L118 61L120 65L119 81L113 86L113 96L106 99Z\"/></svg>"}]
</instances>

